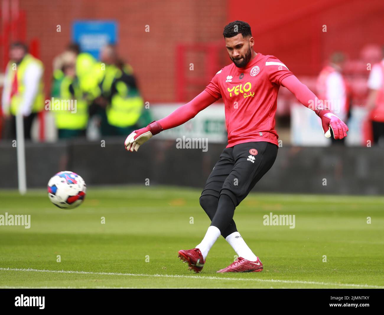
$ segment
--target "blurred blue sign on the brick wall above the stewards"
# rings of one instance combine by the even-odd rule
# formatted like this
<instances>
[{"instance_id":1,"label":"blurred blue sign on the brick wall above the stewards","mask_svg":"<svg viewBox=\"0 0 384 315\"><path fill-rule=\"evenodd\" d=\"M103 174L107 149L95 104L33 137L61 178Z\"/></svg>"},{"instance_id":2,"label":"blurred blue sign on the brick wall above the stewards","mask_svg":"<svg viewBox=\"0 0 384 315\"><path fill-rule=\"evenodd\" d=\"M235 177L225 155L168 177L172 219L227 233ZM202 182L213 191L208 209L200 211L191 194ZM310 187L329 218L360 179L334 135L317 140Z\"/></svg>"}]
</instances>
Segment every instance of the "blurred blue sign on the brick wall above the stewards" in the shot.
<instances>
[{"instance_id":1,"label":"blurred blue sign on the brick wall above the stewards","mask_svg":"<svg viewBox=\"0 0 384 315\"><path fill-rule=\"evenodd\" d=\"M72 41L79 44L80 51L99 59L100 49L115 44L118 38L116 21L75 21L72 25Z\"/></svg>"}]
</instances>

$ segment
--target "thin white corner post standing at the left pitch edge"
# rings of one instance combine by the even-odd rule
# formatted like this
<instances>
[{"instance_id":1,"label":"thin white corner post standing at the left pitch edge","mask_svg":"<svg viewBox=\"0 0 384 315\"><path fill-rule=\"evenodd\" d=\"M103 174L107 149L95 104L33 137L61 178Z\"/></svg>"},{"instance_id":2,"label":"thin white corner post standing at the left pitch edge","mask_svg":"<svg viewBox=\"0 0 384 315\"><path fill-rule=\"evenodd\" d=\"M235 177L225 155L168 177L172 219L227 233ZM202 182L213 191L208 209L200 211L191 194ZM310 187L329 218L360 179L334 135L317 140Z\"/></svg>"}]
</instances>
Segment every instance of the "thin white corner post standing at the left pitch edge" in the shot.
<instances>
[{"instance_id":1,"label":"thin white corner post standing at the left pitch edge","mask_svg":"<svg viewBox=\"0 0 384 315\"><path fill-rule=\"evenodd\" d=\"M24 121L20 112L16 115L16 150L19 193L24 195L26 193Z\"/></svg>"}]
</instances>

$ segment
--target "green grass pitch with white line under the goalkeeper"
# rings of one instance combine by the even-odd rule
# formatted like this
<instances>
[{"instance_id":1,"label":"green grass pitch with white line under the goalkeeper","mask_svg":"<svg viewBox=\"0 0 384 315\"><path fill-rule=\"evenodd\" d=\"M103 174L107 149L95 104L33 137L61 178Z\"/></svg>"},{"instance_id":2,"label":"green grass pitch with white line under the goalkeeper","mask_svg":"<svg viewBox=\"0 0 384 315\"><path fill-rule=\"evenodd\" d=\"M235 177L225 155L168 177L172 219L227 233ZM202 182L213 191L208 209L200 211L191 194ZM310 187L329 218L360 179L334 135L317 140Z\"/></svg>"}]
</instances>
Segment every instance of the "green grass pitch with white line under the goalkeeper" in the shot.
<instances>
[{"instance_id":1,"label":"green grass pitch with white line under the goalkeeper","mask_svg":"<svg viewBox=\"0 0 384 315\"><path fill-rule=\"evenodd\" d=\"M88 187L83 205L63 210L45 190L0 190L0 214L31 215L30 229L0 226L0 287L384 288L383 197L251 193L234 219L263 272L217 274L235 255L220 237L194 274L177 251L210 224L200 193ZM270 212L294 214L295 228L263 225Z\"/></svg>"}]
</instances>

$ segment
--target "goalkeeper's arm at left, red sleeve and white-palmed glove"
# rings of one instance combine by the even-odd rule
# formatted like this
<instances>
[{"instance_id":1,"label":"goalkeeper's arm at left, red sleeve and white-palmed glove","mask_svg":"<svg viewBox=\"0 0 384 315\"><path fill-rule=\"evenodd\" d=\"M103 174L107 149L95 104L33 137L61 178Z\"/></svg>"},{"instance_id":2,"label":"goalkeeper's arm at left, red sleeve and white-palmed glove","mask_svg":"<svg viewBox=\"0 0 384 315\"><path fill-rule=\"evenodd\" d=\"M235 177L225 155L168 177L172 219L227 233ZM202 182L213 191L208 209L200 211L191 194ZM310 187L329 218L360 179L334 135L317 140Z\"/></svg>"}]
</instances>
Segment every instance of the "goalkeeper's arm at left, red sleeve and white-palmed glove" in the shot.
<instances>
[{"instance_id":1,"label":"goalkeeper's arm at left, red sleeve and white-palmed glove","mask_svg":"<svg viewBox=\"0 0 384 315\"><path fill-rule=\"evenodd\" d=\"M174 112L169 114L167 117L158 121L153 121L147 127L135 130L128 135L124 142L124 146L127 151L137 151L139 147L147 142L152 136L159 132L167 129L177 127L184 124L188 120L196 116L196 114L203 109L210 106L210 104L217 101L217 98L210 95L207 91L202 91L192 101L187 104L180 106Z\"/></svg>"}]
</instances>

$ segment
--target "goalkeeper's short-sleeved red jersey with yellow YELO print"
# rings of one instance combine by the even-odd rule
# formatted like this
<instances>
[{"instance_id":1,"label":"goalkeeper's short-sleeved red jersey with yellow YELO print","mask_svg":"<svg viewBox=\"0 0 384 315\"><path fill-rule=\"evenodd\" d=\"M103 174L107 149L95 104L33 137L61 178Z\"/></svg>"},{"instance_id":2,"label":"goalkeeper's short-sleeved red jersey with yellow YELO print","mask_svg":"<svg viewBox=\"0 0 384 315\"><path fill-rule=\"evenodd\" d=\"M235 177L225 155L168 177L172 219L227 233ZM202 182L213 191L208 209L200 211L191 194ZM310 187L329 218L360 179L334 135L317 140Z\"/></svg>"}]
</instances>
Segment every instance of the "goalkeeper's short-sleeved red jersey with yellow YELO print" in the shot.
<instances>
[{"instance_id":1,"label":"goalkeeper's short-sleeved red jersey with yellow YELO print","mask_svg":"<svg viewBox=\"0 0 384 315\"><path fill-rule=\"evenodd\" d=\"M258 53L244 68L230 64L205 88L225 104L227 148L239 143L266 141L278 145L275 130L277 94L291 71L275 56Z\"/></svg>"}]
</instances>

